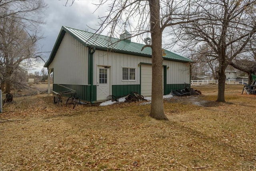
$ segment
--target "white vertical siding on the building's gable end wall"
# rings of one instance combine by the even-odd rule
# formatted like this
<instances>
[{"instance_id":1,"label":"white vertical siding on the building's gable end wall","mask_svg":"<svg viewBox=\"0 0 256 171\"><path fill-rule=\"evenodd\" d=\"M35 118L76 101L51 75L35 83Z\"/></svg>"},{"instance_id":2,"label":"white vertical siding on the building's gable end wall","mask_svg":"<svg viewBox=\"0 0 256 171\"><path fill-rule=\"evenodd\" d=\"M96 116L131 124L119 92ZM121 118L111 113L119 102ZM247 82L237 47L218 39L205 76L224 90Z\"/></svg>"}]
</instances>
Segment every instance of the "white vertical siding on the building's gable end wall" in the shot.
<instances>
[{"instance_id":1,"label":"white vertical siding on the building's gable end wall","mask_svg":"<svg viewBox=\"0 0 256 171\"><path fill-rule=\"evenodd\" d=\"M54 84L88 85L88 48L66 33L48 68Z\"/></svg>"}]
</instances>

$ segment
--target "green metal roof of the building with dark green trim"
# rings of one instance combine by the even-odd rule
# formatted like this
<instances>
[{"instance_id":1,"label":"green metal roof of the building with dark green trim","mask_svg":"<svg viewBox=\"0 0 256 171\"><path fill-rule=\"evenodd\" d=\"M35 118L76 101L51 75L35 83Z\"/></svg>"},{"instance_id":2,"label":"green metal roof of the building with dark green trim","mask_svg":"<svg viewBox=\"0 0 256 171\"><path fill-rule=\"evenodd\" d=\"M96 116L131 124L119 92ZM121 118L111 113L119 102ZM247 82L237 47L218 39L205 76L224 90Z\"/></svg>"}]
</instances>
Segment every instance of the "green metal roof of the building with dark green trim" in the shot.
<instances>
[{"instance_id":1,"label":"green metal roof of the building with dark green trim","mask_svg":"<svg viewBox=\"0 0 256 171\"><path fill-rule=\"evenodd\" d=\"M103 36L100 34L94 34L86 31L62 26L60 33L58 35L58 38L55 42L54 48L52 50L52 53L50 54L50 57L47 60L46 64L44 64L44 67L48 67L52 62L66 32L74 36L74 38L76 38L76 40L78 40L84 46L95 47L96 50L104 50L104 51L111 51L111 52L117 52L122 54L131 54L131 55L145 56L145 57L151 57L152 55L152 51L150 47L146 47L144 48L143 51L141 51L142 47L145 46L144 44L138 44L135 42L129 42L127 40L120 40L117 38L111 38L111 37ZM185 58L183 56L180 56L178 54L175 54L173 52L170 52L168 50L164 50L164 52L166 53L166 56L163 56L165 60L171 60L171 61L177 61L177 62L192 62L192 60Z\"/></svg>"}]
</instances>

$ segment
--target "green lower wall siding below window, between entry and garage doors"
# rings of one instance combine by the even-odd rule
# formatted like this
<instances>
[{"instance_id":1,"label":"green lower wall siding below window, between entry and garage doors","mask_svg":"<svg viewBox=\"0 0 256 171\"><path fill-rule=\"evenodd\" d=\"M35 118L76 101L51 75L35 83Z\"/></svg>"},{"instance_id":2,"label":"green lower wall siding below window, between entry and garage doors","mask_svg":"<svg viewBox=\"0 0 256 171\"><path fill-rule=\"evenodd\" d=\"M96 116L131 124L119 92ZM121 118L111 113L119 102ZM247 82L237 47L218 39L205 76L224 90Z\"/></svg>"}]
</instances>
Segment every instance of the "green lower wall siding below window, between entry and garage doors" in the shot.
<instances>
[{"instance_id":1,"label":"green lower wall siding below window, between entry and garage doors","mask_svg":"<svg viewBox=\"0 0 256 171\"><path fill-rule=\"evenodd\" d=\"M132 91L135 91L140 94L140 85L112 85L112 95L118 96L125 96L131 94Z\"/></svg>"}]
</instances>

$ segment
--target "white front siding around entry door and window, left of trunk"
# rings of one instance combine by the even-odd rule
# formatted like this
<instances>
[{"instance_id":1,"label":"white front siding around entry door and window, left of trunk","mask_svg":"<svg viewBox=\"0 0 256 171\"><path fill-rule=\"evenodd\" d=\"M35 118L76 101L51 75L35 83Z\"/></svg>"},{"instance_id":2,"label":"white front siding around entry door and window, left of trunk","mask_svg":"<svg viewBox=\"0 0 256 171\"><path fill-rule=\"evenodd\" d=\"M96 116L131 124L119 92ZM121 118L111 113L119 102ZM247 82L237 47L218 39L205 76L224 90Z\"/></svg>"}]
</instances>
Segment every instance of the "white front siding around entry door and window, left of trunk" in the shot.
<instances>
[{"instance_id":1,"label":"white front siding around entry door and window, left of trunk","mask_svg":"<svg viewBox=\"0 0 256 171\"><path fill-rule=\"evenodd\" d=\"M112 85L138 85L140 84L140 63L151 64L151 58L106 52L94 52L94 85L96 85L97 66L110 66ZM122 81L122 67L135 68L135 81Z\"/></svg>"}]
</instances>

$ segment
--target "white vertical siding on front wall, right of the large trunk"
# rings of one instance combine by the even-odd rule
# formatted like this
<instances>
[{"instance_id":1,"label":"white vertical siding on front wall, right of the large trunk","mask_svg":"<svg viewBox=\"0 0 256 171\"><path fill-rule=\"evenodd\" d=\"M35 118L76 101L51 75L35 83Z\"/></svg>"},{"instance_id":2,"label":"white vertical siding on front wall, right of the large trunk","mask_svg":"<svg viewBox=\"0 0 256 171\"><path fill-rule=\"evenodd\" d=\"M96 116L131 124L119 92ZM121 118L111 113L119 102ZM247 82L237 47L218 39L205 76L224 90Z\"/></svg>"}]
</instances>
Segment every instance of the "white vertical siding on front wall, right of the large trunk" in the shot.
<instances>
[{"instance_id":1,"label":"white vertical siding on front wall, right of the large trunk","mask_svg":"<svg viewBox=\"0 0 256 171\"><path fill-rule=\"evenodd\" d=\"M190 66L188 63L164 60L163 65L169 67L166 71L166 84L190 83Z\"/></svg>"}]
</instances>

